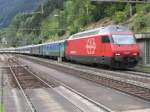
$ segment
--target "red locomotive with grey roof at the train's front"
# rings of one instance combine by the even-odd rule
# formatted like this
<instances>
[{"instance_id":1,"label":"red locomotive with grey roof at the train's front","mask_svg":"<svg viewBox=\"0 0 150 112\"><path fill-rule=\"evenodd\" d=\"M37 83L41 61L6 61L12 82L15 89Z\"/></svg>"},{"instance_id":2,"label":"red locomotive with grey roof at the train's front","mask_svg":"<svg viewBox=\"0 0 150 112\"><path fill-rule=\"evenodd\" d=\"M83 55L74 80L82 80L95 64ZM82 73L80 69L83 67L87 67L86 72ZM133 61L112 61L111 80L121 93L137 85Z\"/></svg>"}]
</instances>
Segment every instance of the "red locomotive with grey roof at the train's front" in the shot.
<instances>
[{"instance_id":1,"label":"red locomotive with grey roof at the train's front","mask_svg":"<svg viewBox=\"0 0 150 112\"><path fill-rule=\"evenodd\" d=\"M140 49L129 29L111 25L72 35L65 55L68 60L81 63L130 68L137 65Z\"/></svg>"}]
</instances>

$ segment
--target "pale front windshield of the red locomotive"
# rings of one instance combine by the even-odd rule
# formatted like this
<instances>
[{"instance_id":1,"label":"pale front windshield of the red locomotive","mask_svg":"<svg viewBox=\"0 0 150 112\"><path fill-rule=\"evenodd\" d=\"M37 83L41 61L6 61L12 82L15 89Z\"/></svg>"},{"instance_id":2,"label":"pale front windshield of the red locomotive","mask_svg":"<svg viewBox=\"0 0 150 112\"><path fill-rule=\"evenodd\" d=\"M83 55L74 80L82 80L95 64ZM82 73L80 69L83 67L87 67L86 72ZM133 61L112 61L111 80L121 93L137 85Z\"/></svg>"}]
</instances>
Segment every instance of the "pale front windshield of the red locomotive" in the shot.
<instances>
[{"instance_id":1,"label":"pale front windshield of the red locomotive","mask_svg":"<svg viewBox=\"0 0 150 112\"><path fill-rule=\"evenodd\" d=\"M135 44L135 38L133 35L112 35L114 44Z\"/></svg>"}]
</instances>

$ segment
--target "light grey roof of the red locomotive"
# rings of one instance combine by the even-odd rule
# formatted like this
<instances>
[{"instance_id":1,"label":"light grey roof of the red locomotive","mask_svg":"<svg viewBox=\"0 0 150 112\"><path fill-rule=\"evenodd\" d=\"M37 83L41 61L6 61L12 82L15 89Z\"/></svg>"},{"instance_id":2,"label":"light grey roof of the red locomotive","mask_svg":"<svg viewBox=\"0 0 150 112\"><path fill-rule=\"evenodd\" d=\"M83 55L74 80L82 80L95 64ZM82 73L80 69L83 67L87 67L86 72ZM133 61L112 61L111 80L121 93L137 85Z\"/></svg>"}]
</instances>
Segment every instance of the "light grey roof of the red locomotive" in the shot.
<instances>
[{"instance_id":1,"label":"light grey roof of the red locomotive","mask_svg":"<svg viewBox=\"0 0 150 112\"><path fill-rule=\"evenodd\" d=\"M108 34L111 32L131 32L131 31L127 27L121 25L109 25L107 27L95 28L92 30L87 30L87 31L73 34L69 39L89 36L89 35Z\"/></svg>"}]
</instances>

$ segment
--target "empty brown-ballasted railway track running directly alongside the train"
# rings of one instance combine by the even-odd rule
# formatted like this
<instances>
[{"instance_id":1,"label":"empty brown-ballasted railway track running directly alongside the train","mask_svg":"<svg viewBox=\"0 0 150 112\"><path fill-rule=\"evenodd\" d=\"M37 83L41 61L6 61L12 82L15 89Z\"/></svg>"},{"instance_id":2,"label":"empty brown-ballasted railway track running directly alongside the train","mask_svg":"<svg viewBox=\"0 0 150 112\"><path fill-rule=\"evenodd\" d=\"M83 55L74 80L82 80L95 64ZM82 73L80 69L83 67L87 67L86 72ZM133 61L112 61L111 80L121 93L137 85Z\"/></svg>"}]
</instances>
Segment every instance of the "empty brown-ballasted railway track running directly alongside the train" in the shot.
<instances>
[{"instance_id":1,"label":"empty brown-ballasted railway track running directly alongside the train","mask_svg":"<svg viewBox=\"0 0 150 112\"><path fill-rule=\"evenodd\" d=\"M147 75L107 71L70 63L47 62L47 60L39 58L24 58L150 101L150 78Z\"/></svg>"}]
</instances>

